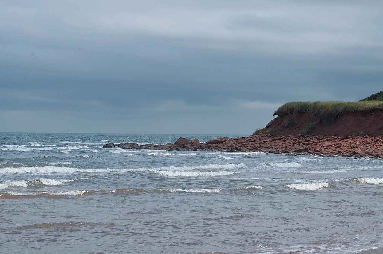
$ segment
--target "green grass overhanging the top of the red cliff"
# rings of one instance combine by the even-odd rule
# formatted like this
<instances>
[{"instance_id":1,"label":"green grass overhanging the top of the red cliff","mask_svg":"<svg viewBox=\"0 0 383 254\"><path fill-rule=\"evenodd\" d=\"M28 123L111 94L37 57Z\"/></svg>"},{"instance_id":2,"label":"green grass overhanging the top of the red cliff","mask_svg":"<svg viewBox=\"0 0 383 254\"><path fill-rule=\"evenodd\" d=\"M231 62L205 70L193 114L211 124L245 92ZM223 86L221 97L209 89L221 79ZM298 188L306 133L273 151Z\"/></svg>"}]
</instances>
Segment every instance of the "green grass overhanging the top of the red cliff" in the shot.
<instances>
[{"instance_id":1,"label":"green grass overhanging the top of the red cliff","mask_svg":"<svg viewBox=\"0 0 383 254\"><path fill-rule=\"evenodd\" d=\"M376 109L383 109L383 101L299 101L280 106L274 116L310 113L318 117L319 122L332 124L341 114L371 112Z\"/></svg>"}]
</instances>

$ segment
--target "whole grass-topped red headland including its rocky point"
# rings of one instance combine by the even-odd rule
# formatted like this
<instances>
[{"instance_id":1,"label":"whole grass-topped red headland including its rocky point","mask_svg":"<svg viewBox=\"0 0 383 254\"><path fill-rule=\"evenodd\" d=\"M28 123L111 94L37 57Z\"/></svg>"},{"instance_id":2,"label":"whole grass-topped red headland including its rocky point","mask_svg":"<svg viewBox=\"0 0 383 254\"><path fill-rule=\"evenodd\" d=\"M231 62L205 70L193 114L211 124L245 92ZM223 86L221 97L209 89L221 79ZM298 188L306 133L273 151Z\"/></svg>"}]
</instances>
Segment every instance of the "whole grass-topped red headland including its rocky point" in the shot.
<instances>
[{"instance_id":1,"label":"whole grass-topped red headland including its rocky point","mask_svg":"<svg viewBox=\"0 0 383 254\"><path fill-rule=\"evenodd\" d=\"M103 148L280 153L285 155L383 157L383 91L354 102L291 102L249 137L207 142L178 138L166 145L108 143Z\"/></svg>"}]
</instances>

